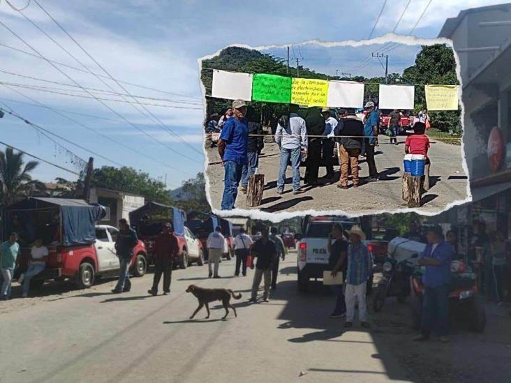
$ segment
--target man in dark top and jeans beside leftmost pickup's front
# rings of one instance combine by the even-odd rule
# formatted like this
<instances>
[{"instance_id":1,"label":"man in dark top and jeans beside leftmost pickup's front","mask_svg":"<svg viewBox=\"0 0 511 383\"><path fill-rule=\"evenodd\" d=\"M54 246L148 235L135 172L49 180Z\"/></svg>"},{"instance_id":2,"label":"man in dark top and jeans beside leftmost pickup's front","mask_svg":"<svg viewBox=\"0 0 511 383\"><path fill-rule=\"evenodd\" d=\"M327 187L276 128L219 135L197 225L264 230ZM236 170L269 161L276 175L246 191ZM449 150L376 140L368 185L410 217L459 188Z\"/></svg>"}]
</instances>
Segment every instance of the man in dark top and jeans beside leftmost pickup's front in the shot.
<instances>
[{"instance_id":1,"label":"man in dark top and jeans beside leftmost pickup's front","mask_svg":"<svg viewBox=\"0 0 511 383\"><path fill-rule=\"evenodd\" d=\"M114 294L120 294L121 292L128 292L131 290L131 281L128 274L131 258L133 257L133 248L137 243L137 233L128 225L127 220L121 218L119 220L119 234L117 235L117 241L115 241L115 251L117 257L119 257L120 270L119 280L114 290L112 290Z\"/></svg>"}]
</instances>

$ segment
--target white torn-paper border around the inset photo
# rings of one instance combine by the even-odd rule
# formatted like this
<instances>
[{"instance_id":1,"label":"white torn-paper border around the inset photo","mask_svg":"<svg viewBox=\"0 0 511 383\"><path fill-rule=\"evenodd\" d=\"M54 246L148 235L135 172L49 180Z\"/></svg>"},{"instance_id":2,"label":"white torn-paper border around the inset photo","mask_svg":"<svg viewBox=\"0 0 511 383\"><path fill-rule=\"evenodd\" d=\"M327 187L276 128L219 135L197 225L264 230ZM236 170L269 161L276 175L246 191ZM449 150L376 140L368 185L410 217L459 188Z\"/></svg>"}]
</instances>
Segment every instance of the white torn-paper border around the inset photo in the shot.
<instances>
[{"instance_id":1,"label":"white torn-paper border around the inset photo","mask_svg":"<svg viewBox=\"0 0 511 383\"><path fill-rule=\"evenodd\" d=\"M452 43L452 40L448 38L417 38L415 36L403 36L403 35L397 35L396 33L387 33L384 36L373 38L371 40L345 40L345 41L338 41L338 42L329 42L329 41L323 41L318 39L313 40L306 40L302 43L292 43L293 45L321 45L323 47L343 47L343 46L350 46L350 47L362 47L364 45L372 45L372 44L385 44L385 43L400 43L405 45L435 45L435 44L445 44L454 52L454 60L456 61L456 75L459 80L459 87L460 89L463 89L463 83L461 80L461 68L459 63L459 57L457 52L454 50L454 45ZM231 44L227 45L220 50L217 50L214 54L209 54L204 57L200 57L198 59L198 81L200 83L200 89L202 91L202 102L204 105L204 115L206 116L207 110L206 110L206 89L204 87L204 84L202 84L202 81L200 80L200 75L202 73L202 60L205 59L212 59L213 57L216 57L220 54L222 50L228 47L243 47L249 50L269 50L272 48L285 48L290 44L271 44L271 45L260 45L256 47L251 47L250 45L245 44ZM458 99L459 99L459 105L461 107L461 126L464 129L465 128L465 107L463 104L463 100L461 99L461 93L459 92ZM304 210L304 211L282 211L279 213L269 213L266 211L261 211L259 209L232 209L232 210L219 210L216 209L212 204L211 195L209 194L209 176L207 174L207 167L209 163L209 158L207 156L207 151L205 147L206 142L206 135L204 135L204 139L202 141L202 151L205 156L205 181L206 181L206 197L207 202L209 202L209 206L212 207L212 212L222 216L222 217L230 217L230 216L244 216L251 219L258 219L258 220L270 220L274 223L278 223L281 220L288 219L288 218L295 218L305 215L311 215L311 216L347 216L347 217L360 217L360 216L369 216L369 215L378 215L383 213L408 213L413 212L420 214L422 216L436 216L440 213L443 213L443 211L446 211L448 209L451 209L454 206L458 206L461 204L466 204L467 202L472 202L472 193L471 193L471 187L470 187L470 174L468 173L468 166L466 163L466 157L465 157L465 144L464 144L464 135L461 135L461 167L463 167L463 170L467 176L467 183L466 183L466 197L464 200L456 200L452 201L449 204L445 205L445 208L441 211L422 211L421 208L403 208L403 209L397 209L397 210L387 210L387 209L381 209L372 211L371 213L366 211L356 212L356 211L343 211L343 210Z\"/></svg>"}]
</instances>

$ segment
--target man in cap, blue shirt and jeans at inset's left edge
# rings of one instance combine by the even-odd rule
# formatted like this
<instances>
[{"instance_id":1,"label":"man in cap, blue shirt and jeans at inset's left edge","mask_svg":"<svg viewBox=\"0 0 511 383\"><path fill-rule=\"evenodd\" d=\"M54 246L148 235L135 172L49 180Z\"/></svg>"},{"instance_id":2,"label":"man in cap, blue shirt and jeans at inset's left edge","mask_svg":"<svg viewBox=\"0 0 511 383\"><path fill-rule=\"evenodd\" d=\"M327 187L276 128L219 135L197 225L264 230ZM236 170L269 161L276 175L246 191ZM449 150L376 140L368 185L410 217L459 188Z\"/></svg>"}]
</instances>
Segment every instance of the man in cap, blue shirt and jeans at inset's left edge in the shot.
<instances>
[{"instance_id":1,"label":"man in cap, blue shirt and jeans at inset's left edge","mask_svg":"<svg viewBox=\"0 0 511 383\"><path fill-rule=\"evenodd\" d=\"M219 139L219 154L225 169L222 210L234 209L239 181L242 179L243 167L247 163L249 122L245 118L246 103L244 100L234 100L232 109L234 118L225 121Z\"/></svg>"}]
</instances>

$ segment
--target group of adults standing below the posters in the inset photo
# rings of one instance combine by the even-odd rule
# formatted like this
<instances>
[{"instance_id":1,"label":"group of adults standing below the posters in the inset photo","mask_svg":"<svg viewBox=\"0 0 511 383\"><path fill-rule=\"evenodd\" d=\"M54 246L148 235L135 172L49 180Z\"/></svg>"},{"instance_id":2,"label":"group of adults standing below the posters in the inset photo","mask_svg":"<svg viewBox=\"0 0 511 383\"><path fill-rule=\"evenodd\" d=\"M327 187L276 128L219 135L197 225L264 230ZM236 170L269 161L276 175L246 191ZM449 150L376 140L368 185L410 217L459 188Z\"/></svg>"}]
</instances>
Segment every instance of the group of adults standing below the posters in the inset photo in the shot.
<instances>
[{"instance_id":1,"label":"group of adults standing below the posters in the inset photo","mask_svg":"<svg viewBox=\"0 0 511 383\"><path fill-rule=\"evenodd\" d=\"M280 164L276 192L282 194L286 183L288 165L292 168L292 193L304 193L299 167L306 161L304 184L318 185L318 172L323 162L325 178L334 178L334 150L341 165L339 188L348 188L348 177L353 186L362 184L359 177L359 156L364 155L369 166L365 182L378 181L375 147L378 145L380 116L372 101L366 103L364 119L358 118L355 109L339 111L330 108L310 107L299 113L299 105L291 104L289 112L276 119L275 142L279 146ZM255 118L247 116L249 109L244 100L234 100L232 116L224 115L221 130L219 123L208 123L207 131L220 131L218 142L221 165L225 170L222 210L235 208L239 189L246 193L249 177L258 169L263 143L262 126ZM213 126L215 125L215 126Z\"/></svg>"}]
</instances>

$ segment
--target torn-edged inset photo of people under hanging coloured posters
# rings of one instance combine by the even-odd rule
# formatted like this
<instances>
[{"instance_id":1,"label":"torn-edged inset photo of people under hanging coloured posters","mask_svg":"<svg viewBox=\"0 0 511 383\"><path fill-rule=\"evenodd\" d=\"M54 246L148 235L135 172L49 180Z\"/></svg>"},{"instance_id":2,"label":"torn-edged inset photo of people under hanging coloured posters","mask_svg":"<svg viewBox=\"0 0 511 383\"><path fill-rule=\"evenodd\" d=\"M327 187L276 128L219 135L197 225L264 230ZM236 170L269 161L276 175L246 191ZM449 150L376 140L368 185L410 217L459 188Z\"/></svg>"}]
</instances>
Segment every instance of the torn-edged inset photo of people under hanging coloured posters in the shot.
<instances>
[{"instance_id":1,"label":"torn-edged inset photo of people under hanging coloured posters","mask_svg":"<svg viewBox=\"0 0 511 383\"><path fill-rule=\"evenodd\" d=\"M470 200L450 40L230 46L200 66L214 211L431 214Z\"/></svg>"}]
</instances>

